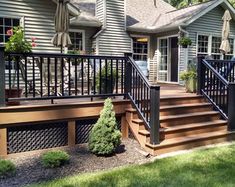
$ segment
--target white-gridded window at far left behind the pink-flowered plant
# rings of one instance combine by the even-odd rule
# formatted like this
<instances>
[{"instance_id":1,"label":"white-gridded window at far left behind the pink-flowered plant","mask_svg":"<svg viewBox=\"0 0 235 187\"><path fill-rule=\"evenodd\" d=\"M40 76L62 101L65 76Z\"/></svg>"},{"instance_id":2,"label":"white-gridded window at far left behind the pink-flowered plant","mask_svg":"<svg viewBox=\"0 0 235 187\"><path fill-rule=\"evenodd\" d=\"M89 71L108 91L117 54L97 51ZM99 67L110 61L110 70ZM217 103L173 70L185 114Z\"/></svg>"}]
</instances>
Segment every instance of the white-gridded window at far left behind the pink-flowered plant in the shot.
<instances>
[{"instance_id":1,"label":"white-gridded window at far left behind the pink-flowered plant","mask_svg":"<svg viewBox=\"0 0 235 187\"><path fill-rule=\"evenodd\" d=\"M6 43L10 36L7 31L20 25L20 19L0 17L0 43Z\"/></svg>"}]
</instances>

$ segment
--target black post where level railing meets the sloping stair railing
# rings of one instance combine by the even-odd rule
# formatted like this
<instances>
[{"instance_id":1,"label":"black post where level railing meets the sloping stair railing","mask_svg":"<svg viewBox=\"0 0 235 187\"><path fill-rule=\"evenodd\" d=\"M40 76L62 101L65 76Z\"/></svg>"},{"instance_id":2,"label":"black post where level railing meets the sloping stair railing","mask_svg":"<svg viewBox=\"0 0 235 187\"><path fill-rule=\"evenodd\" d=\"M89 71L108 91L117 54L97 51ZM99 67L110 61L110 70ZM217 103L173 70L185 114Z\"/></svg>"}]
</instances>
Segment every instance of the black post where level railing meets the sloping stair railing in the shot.
<instances>
[{"instance_id":1,"label":"black post where level railing meets the sloping stair railing","mask_svg":"<svg viewBox=\"0 0 235 187\"><path fill-rule=\"evenodd\" d=\"M128 93L131 92L131 76L132 76L132 66L131 63L128 60L128 57L131 57L131 53L126 53L126 63L125 63L125 83L124 83L124 88L125 88L125 99L127 98Z\"/></svg>"}]
</instances>

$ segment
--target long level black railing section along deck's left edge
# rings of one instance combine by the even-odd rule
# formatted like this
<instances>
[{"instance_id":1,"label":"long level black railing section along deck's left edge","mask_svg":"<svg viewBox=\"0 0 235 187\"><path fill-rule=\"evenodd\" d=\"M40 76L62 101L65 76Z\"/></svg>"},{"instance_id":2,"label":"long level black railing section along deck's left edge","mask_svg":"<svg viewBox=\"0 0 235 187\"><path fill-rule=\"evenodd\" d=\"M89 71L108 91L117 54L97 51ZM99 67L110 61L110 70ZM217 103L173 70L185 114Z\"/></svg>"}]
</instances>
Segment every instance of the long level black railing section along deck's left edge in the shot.
<instances>
[{"instance_id":1,"label":"long level black railing section along deck's left edge","mask_svg":"<svg viewBox=\"0 0 235 187\"><path fill-rule=\"evenodd\" d=\"M6 88L17 90L18 97L8 100L124 95L125 62L125 57L9 53Z\"/></svg>"}]
</instances>

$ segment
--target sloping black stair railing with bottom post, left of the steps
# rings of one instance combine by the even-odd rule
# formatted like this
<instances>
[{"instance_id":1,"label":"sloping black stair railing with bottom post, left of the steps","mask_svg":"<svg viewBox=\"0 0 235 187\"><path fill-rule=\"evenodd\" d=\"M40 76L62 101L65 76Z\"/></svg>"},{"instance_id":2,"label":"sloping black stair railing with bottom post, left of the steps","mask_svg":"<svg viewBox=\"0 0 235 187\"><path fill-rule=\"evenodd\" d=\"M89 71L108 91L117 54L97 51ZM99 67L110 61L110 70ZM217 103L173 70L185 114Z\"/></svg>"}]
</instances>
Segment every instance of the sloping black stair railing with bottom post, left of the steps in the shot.
<instances>
[{"instance_id":1,"label":"sloping black stair railing with bottom post, left of the steps","mask_svg":"<svg viewBox=\"0 0 235 187\"><path fill-rule=\"evenodd\" d=\"M125 69L125 92L150 130L151 143L158 144L160 142L160 86L151 85L131 57L128 58Z\"/></svg>"}]
</instances>

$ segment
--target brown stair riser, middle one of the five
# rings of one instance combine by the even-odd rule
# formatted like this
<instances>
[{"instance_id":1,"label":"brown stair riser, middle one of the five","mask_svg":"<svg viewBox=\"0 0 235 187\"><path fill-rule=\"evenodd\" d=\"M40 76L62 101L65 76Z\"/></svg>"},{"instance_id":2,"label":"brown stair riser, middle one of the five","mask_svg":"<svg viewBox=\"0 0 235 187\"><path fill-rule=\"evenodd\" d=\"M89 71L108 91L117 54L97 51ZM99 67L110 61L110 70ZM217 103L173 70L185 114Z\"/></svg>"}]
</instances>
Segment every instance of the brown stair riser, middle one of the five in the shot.
<instances>
[{"instance_id":1,"label":"brown stair riser, middle one of the five","mask_svg":"<svg viewBox=\"0 0 235 187\"><path fill-rule=\"evenodd\" d=\"M219 120L219 114L210 114L210 115L203 115L203 116L189 116L183 118L175 118L175 119L166 119L161 120L160 124L161 127L171 127L176 125L185 125L190 123L201 123L201 122L209 122L214 120Z\"/></svg>"}]
</instances>

